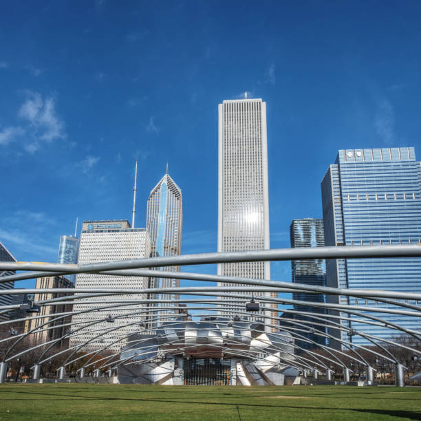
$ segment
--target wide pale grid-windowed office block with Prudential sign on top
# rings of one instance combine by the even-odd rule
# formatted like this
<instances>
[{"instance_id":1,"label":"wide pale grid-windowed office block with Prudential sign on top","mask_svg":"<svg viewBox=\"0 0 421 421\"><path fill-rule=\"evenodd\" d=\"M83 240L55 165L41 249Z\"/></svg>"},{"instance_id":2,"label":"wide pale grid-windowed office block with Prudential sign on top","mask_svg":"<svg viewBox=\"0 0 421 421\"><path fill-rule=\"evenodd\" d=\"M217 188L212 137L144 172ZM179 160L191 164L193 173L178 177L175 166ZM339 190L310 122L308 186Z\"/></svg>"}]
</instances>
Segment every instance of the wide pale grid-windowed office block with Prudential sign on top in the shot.
<instances>
[{"instance_id":1,"label":"wide pale grid-windowed office block with Prudential sign on top","mask_svg":"<svg viewBox=\"0 0 421 421\"><path fill-rule=\"evenodd\" d=\"M78 263L142 259L150 257L150 255L151 240L146 228L130 228L127 219L83 222ZM147 287L148 280L145 277L78 274L75 292L78 288L125 288L142 291ZM89 341L83 347L84 351L90 352L108 346L107 349L118 352L121 347L125 346L127 336L133 332L138 332L140 323L143 323L146 317L143 303L124 305L123 307L118 307L118 305L144 298L144 294L140 292L81 299L77 304L74 304L74 312L90 310L94 307L102 307L102 309L77 314L72 317L72 323L89 325L89 323L98 320L100 320L100 323L87 326L84 330L80 330L77 335L72 336L70 346ZM98 305L84 304L83 301L86 300L98 301ZM116 307L113 307L114 304L116 304ZM96 338L110 328L116 330Z\"/></svg>"}]
</instances>

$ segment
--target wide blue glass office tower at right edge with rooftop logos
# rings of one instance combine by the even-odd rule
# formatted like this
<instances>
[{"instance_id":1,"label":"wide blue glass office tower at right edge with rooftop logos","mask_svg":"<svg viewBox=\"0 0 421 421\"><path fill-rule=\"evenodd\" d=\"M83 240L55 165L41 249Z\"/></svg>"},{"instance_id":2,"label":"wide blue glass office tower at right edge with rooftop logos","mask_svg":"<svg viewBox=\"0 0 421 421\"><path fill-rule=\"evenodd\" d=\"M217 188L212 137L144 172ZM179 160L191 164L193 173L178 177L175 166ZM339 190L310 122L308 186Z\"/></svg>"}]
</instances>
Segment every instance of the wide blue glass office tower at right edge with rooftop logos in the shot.
<instances>
[{"instance_id":1,"label":"wide blue glass office tower at right edge with rooftop logos","mask_svg":"<svg viewBox=\"0 0 421 421\"><path fill-rule=\"evenodd\" d=\"M413 148L347 149L338 152L321 183L326 246L411 244L421 240L421 164ZM420 292L421 260L415 258L327 260L327 286ZM328 295L328 302L392 308L381 302ZM413 301L411 301L413 303ZM334 313L336 314L336 313ZM407 329L420 330L420 319L370 313ZM346 314L342 314L346 316ZM390 338L393 331L358 323L357 332ZM356 345L369 345L359 335L331 331ZM337 341L332 345L339 347Z\"/></svg>"}]
</instances>

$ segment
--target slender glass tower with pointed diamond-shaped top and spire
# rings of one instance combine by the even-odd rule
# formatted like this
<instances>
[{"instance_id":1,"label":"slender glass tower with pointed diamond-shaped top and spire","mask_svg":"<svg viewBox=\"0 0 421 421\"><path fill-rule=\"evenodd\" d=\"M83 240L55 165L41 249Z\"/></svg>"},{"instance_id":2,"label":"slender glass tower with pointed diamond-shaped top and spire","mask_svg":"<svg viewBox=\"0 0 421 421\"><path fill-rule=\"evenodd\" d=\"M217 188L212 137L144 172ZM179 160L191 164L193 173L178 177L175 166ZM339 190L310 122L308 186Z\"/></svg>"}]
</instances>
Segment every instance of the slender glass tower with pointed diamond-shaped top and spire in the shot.
<instances>
[{"instance_id":1,"label":"slender glass tower with pointed diamond-shaped top and spire","mask_svg":"<svg viewBox=\"0 0 421 421\"><path fill-rule=\"evenodd\" d=\"M153 256L175 256L181 253L183 224L182 191L168 173L152 189L147 204L147 230L151 236L151 252ZM163 270L179 272L180 266L165 267ZM179 279L151 279L153 288L177 288ZM162 300L175 300L177 294L160 294L153 297ZM171 303L162 303L171 305Z\"/></svg>"}]
</instances>

